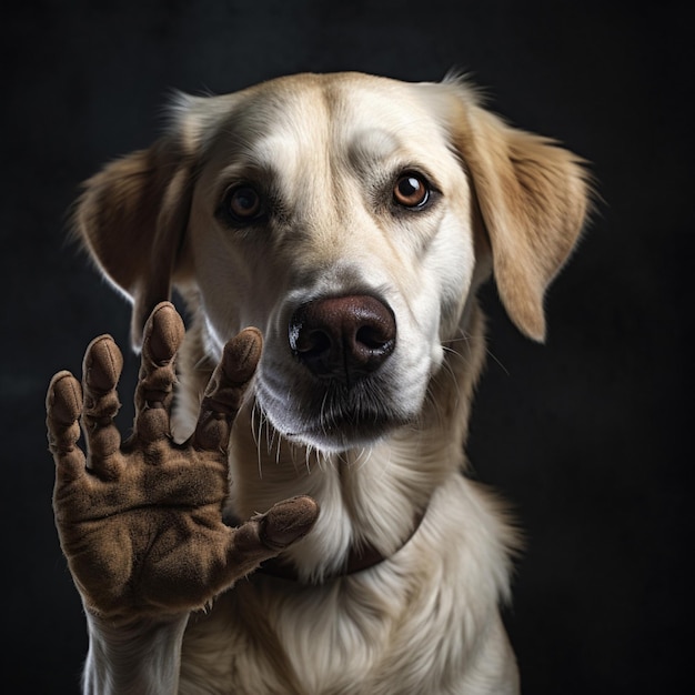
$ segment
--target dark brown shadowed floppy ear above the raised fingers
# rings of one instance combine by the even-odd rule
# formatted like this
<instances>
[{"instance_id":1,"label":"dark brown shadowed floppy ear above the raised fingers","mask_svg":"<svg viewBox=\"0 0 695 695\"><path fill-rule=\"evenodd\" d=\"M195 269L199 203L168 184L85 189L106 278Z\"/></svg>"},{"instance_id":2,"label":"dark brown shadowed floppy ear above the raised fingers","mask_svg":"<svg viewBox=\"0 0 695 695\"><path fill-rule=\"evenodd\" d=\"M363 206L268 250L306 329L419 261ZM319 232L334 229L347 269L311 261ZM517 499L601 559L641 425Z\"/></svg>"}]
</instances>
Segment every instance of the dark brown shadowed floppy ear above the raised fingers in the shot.
<instances>
[{"instance_id":1,"label":"dark brown shadowed floppy ear above the raised fingers","mask_svg":"<svg viewBox=\"0 0 695 695\"><path fill-rule=\"evenodd\" d=\"M75 230L99 269L133 303L131 340L170 299L192 195L193 161L167 135L107 165L84 184Z\"/></svg>"}]
</instances>

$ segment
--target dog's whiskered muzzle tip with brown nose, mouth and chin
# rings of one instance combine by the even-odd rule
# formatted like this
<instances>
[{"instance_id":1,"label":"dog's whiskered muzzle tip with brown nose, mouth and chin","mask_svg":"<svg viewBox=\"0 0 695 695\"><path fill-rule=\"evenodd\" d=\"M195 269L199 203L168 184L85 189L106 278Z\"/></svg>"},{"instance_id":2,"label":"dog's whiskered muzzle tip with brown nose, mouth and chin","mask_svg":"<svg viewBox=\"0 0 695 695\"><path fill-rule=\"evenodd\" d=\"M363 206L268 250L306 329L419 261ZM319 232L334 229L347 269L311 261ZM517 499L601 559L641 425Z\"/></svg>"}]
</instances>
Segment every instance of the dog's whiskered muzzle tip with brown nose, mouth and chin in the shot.
<instances>
[{"instance_id":1,"label":"dog's whiskered muzzle tip with brown nose, mouth and chin","mask_svg":"<svg viewBox=\"0 0 695 695\"><path fill-rule=\"evenodd\" d=\"M282 345L268 341L255 386L261 410L282 435L339 452L370 446L416 414L419 393L412 392L420 380L407 380L386 302L322 296L295 305L286 321Z\"/></svg>"}]
</instances>

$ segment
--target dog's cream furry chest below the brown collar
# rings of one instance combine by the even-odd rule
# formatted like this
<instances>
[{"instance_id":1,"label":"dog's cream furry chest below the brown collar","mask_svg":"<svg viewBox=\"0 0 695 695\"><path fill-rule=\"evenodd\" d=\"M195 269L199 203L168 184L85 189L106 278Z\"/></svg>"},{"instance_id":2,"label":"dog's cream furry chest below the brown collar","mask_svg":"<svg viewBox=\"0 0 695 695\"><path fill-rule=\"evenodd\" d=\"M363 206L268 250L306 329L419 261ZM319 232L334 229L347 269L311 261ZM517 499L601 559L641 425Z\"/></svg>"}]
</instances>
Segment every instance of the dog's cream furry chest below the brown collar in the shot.
<instances>
[{"instance_id":1,"label":"dog's cream furry chest below the brown collar","mask_svg":"<svg viewBox=\"0 0 695 695\"><path fill-rule=\"evenodd\" d=\"M359 575L318 587L241 580L191 621L181 693L516 693L496 612L501 558L485 550L494 526L452 506L467 487L461 476L441 490L411 541Z\"/></svg>"}]
</instances>

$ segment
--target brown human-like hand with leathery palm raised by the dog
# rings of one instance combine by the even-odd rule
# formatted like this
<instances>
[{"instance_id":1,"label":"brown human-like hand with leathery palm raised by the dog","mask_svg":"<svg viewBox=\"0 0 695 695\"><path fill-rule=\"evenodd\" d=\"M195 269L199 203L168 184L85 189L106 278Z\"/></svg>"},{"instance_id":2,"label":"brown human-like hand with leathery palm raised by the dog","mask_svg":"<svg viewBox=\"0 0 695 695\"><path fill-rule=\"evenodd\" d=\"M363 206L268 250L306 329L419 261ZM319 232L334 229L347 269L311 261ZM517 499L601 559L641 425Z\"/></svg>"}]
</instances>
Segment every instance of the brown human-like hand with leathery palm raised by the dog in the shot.
<instances>
[{"instance_id":1,"label":"brown human-like hand with leathery palm raised by the dog","mask_svg":"<svg viewBox=\"0 0 695 695\"><path fill-rule=\"evenodd\" d=\"M170 407L183 322L158 305L144 330L132 436L113 423L121 352L92 341L82 384L51 380L49 445L56 461L53 507L62 550L85 606L110 618L188 612L305 535L318 516L296 497L239 528L222 522L230 427L261 354L261 334L242 331L213 373L193 435L175 444ZM85 451L79 447L81 421Z\"/></svg>"}]
</instances>

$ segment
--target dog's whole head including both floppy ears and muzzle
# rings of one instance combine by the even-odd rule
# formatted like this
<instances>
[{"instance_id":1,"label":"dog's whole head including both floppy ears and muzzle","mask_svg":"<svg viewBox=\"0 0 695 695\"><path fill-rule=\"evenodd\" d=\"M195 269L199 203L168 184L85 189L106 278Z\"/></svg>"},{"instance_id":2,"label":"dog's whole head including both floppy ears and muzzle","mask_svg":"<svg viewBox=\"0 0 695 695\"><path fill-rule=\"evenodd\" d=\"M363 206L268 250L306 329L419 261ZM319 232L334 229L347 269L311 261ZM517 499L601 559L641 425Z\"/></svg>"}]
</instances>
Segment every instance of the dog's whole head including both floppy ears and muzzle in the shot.
<instances>
[{"instance_id":1,"label":"dog's whole head including both floppy ears and muzzle","mask_svg":"<svg viewBox=\"0 0 695 695\"><path fill-rule=\"evenodd\" d=\"M78 222L135 343L172 283L192 289L210 352L260 328L260 406L330 451L419 414L490 270L543 340L586 198L576 158L460 81L296 75L181 97L160 141L88 182Z\"/></svg>"}]
</instances>

